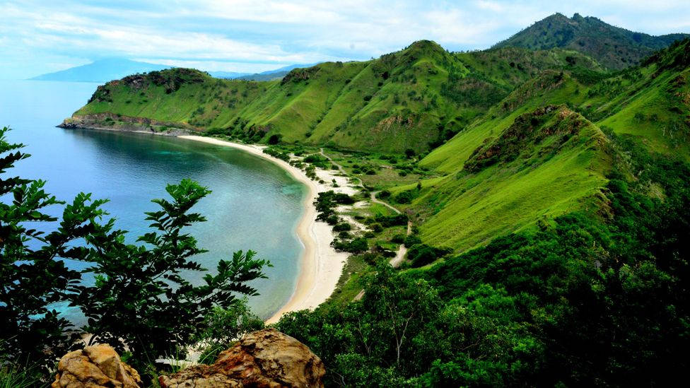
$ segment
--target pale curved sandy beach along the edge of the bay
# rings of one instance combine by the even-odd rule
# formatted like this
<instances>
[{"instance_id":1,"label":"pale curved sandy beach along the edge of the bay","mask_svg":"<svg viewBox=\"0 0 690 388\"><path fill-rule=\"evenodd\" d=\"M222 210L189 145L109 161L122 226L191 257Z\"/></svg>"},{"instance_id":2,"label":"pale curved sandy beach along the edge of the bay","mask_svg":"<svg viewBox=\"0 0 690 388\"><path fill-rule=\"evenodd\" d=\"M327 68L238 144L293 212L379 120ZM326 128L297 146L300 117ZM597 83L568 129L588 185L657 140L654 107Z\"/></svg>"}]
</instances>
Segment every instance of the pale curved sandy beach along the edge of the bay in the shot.
<instances>
[{"instance_id":1,"label":"pale curved sandy beach along the edge of the bay","mask_svg":"<svg viewBox=\"0 0 690 388\"><path fill-rule=\"evenodd\" d=\"M269 324L278 322L286 312L313 309L327 300L335 290L348 254L336 252L331 247L334 235L327 223L316 221L314 200L318 193L328 190L353 194L357 190L349 184L347 178L336 176L329 171L317 170L317 176L327 182L320 184L310 180L297 167L264 153L263 148L265 147L263 146L233 143L204 136L185 135L177 137L247 151L260 158L271 160L271 162L283 167L296 180L305 184L308 188L308 194L304 201L305 211L297 226L297 235L304 245L304 252L300 258L300 273L297 278L296 289L288 302L266 322ZM332 180L336 180L339 187L331 187L330 182Z\"/></svg>"}]
</instances>

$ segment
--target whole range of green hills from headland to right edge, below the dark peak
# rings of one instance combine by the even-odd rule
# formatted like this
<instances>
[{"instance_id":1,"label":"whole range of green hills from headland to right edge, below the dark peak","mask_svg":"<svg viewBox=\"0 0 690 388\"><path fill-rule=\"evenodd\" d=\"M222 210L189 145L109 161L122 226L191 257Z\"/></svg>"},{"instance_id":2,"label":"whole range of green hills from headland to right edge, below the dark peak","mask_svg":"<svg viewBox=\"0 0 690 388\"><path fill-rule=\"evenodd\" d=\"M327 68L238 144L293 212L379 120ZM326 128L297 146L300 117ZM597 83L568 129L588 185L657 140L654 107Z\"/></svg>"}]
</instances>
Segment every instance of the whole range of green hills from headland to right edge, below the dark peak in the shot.
<instances>
[{"instance_id":1,"label":"whole range of green hills from headland to right edge, below the dark peak","mask_svg":"<svg viewBox=\"0 0 690 388\"><path fill-rule=\"evenodd\" d=\"M409 199L399 206L423 242L463 252L572 211L606 214L607 177L624 158L612 136L689 160L688 42L616 73L574 50L450 53L430 41L370 61L293 69L280 81L153 71L99 87L65 124L411 149L424 156L421 188L392 176L374 189Z\"/></svg>"}]
</instances>

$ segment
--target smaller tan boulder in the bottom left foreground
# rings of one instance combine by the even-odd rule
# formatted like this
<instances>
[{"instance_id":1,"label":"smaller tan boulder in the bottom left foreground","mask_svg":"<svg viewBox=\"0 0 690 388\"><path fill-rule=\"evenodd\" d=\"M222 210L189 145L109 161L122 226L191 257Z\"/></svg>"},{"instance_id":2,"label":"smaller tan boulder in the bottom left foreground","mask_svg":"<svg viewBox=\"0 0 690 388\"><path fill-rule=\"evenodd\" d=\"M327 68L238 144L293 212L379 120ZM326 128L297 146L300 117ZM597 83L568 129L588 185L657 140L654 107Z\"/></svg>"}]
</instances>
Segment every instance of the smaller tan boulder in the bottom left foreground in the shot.
<instances>
[{"instance_id":1,"label":"smaller tan boulder in the bottom left foreground","mask_svg":"<svg viewBox=\"0 0 690 388\"><path fill-rule=\"evenodd\" d=\"M139 388L139 373L123 363L108 345L87 346L64 355L52 388Z\"/></svg>"}]
</instances>

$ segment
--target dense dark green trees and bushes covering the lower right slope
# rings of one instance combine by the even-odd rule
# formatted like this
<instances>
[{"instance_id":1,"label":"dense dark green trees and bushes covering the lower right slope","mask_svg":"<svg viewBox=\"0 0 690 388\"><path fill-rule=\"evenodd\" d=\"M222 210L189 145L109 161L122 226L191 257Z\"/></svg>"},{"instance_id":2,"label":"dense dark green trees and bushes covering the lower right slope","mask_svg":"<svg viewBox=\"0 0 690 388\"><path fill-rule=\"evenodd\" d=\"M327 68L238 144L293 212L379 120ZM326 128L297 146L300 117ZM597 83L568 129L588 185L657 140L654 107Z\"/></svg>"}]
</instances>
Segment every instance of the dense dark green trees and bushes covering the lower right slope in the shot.
<instances>
[{"instance_id":1,"label":"dense dark green trees and bushes covering the lower right slope","mask_svg":"<svg viewBox=\"0 0 690 388\"><path fill-rule=\"evenodd\" d=\"M689 366L690 168L614 141L632 158L609 175L611 218L568 213L425 271L379 264L361 301L279 329L324 359L333 385L677 381ZM643 173L628 181L628 167ZM645 194L650 182L665 199Z\"/></svg>"}]
</instances>

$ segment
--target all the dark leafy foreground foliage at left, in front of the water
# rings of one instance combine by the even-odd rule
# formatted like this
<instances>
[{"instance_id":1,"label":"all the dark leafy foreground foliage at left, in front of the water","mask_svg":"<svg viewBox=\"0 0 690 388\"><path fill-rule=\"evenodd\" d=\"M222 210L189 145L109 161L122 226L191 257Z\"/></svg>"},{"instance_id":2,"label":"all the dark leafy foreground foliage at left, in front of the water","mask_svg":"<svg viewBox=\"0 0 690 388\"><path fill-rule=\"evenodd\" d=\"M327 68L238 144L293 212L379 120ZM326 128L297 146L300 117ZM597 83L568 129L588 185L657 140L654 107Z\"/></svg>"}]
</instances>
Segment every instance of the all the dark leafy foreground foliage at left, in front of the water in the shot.
<instances>
[{"instance_id":1,"label":"all the dark leafy foreground foliage at left, in front of the water","mask_svg":"<svg viewBox=\"0 0 690 388\"><path fill-rule=\"evenodd\" d=\"M0 195L11 201L0 203L2 368L52 368L88 333L90 342L127 351L129 362L143 371L203 339L218 320L214 316L242 309L236 295L256 295L246 282L264 276L262 266L270 264L252 251L218 261L216 274L206 274L202 285L185 280L183 271L206 271L193 261L205 251L185 228L204 221L190 209L208 189L191 180L168 185L171 200L153 200L160 210L147 213L151 232L138 239L145 245L127 244L125 232L115 230L112 219L104 221L105 200L79 194L65 204L42 189L45 182L8 175L28 155L21 144L5 140L6 131L0 130ZM59 205L62 217L45 213ZM83 261L87 269L71 270L66 259ZM58 314L58 302L79 307L86 327L71 327Z\"/></svg>"}]
</instances>

